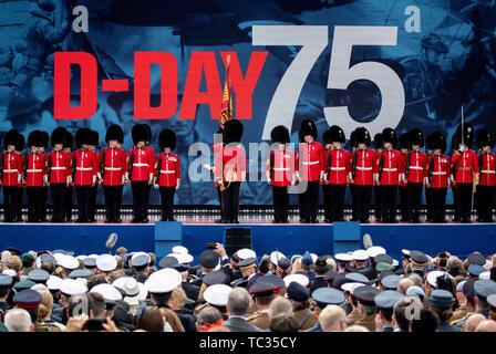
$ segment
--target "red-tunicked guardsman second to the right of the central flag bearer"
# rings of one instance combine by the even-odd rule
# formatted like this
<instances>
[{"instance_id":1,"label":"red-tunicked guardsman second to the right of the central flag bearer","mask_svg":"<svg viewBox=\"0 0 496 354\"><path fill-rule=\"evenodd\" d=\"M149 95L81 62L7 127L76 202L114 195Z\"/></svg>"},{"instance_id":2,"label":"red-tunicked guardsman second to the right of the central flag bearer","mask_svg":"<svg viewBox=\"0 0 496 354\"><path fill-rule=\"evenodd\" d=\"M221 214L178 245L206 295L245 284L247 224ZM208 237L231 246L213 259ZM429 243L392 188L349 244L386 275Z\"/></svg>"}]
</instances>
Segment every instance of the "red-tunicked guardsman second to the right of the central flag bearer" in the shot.
<instances>
[{"instance_id":1,"label":"red-tunicked guardsman second to the right of the central flag bearer","mask_svg":"<svg viewBox=\"0 0 496 354\"><path fill-rule=\"evenodd\" d=\"M300 222L318 223L319 186L324 177L323 145L316 142L317 126L310 119L301 122L299 129L299 184L302 188L299 195Z\"/></svg>"}]
</instances>

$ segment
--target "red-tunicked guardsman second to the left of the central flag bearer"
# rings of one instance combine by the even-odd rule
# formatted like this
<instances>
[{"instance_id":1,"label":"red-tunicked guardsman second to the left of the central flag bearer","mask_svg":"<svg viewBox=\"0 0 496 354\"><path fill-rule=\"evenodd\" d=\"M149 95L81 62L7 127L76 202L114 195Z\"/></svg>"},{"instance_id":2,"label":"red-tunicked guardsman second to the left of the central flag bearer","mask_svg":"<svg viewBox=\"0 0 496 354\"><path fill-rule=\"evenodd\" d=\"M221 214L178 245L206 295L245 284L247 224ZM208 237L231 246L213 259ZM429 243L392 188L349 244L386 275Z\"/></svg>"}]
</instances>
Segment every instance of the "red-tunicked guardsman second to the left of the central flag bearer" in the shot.
<instances>
[{"instance_id":1,"label":"red-tunicked guardsman second to the left of the central flag bearer","mask_svg":"<svg viewBox=\"0 0 496 354\"><path fill-rule=\"evenodd\" d=\"M148 129L144 124L136 124L132 129L134 148L128 156L128 179L133 190L133 221L149 222L148 204L149 186L153 184L155 152L151 146Z\"/></svg>"}]
</instances>

